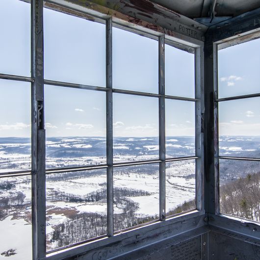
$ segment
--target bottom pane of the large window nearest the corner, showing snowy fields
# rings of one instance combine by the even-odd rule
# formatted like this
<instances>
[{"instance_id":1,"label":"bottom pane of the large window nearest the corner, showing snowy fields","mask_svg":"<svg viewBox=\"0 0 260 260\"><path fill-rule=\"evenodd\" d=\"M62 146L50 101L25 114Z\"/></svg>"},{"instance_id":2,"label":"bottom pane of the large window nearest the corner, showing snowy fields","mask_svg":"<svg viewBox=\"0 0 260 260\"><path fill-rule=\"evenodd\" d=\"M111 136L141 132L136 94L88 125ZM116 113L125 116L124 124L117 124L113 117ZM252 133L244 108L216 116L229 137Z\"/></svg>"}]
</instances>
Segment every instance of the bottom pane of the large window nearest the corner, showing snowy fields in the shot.
<instances>
[{"instance_id":1,"label":"bottom pane of the large window nearest the corner, showing snowy fields","mask_svg":"<svg viewBox=\"0 0 260 260\"><path fill-rule=\"evenodd\" d=\"M196 208L195 160L166 163L166 216Z\"/></svg>"}]
</instances>

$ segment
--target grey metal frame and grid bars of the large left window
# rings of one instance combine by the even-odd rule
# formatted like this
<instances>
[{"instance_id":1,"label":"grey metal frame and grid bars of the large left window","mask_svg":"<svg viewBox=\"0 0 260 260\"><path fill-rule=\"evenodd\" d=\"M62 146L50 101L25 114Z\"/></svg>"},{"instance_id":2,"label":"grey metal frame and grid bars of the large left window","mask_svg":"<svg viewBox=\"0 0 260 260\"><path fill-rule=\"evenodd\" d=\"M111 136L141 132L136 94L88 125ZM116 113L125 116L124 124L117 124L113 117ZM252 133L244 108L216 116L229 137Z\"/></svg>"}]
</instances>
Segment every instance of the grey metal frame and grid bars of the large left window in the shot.
<instances>
[{"instance_id":1,"label":"grey metal frame and grid bars of the large left window","mask_svg":"<svg viewBox=\"0 0 260 260\"><path fill-rule=\"evenodd\" d=\"M43 53L43 8L44 6L55 10L59 5L57 3L62 0L25 0L31 4L31 77L23 77L16 75L0 74L1 79L26 81L31 83L31 139L32 139L32 165L31 171L3 172L2 177L13 177L31 175L32 183L32 248L34 260L58 260L64 257L72 257L77 254L100 250L110 243L130 239L133 236L149 235L158 233L158 237L165 237L165 233L179 234L193 228L204 226L204 130L203 130L203 114L204 114L204 43L200 40L178 33L172 35L169 30L153 31L141 26L132 25L131 22L126 23L114 17L94 12L96 14L95 21L105 24L106 26L106 86L89 86L70 82L60 82L44 79L44 53ZM49 3L47 6L46 3ZM53 4L53 5L50 5ZM75 6L74 6L75 7ZM81 10L82 9L82 10ZM57 11L61 11L57 9ZM64 11L64 10L63 10ZM67 11L70 11L68 9ZM73 15L84 18L93 16L93 10L86 12L85 8L79 7L78 10L73 9ZM158 75L159 85L158 94L114 89L112 87L112 26L123 28L131 32L156 39L158 41ZM195 61L195 98L177 97L165 95L164 83L164 46L166 44L180 48L183 51L194 52ZM44 85L57 85L63 87L88 89L93 91L104 91L106 93L106 164L89 165L82 167L68 167L46 169L45 165L45 139L46 133L44 128ZM159 157L154 160L134 161L125 163L113 163L113 125L112 125L112 96L113 93L121 93L125 95L138 95L155 97L159 100ZM165 99L182 100L194 102L195 105L195 156L165 158ZM165 212L165 163L172 161L190 160L196 161L196 209L180 214L167 216ZM140 165L148 163L159 164L159 216L156 221L145 223L131 227L123 231L114 232L113 230L113 167L124 167L130 165ZM92 169L105 168L107 172L107 235L95 237L86 241L78 242L67 247L46 252L46 174L59 174L59 172L69 171L86 171ZM167 220L166 220L167 219ZM166 220L166 221L165 221ZM180 230L169 232L170 227L179 227ZM123 233L122 233L123 232ZM146 243L156 242L156 238L147 238ZM156 240L155 240L156 239ZM95 253L94 253L95 254Z\"/></svg>"}]
</instances>

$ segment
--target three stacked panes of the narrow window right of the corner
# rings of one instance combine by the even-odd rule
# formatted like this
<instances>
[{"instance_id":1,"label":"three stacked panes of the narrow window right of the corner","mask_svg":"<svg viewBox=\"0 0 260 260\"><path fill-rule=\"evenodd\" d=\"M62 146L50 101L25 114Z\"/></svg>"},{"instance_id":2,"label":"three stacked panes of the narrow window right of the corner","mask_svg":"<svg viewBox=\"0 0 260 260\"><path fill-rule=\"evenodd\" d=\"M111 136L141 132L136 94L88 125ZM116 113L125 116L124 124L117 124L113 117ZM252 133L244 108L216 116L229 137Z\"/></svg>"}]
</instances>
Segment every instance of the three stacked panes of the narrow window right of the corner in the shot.
<instances>
[{"instance_id":1,"label":"three stacked panes of the narrow window right of the corner","mask_svg":"<svg viewBox=\"0 0 260 260\"><path fill-rule=\"evenodd\" d=\"M218 51L220 212L260 221L260 39Z\"/></svg>"}]
</instances>

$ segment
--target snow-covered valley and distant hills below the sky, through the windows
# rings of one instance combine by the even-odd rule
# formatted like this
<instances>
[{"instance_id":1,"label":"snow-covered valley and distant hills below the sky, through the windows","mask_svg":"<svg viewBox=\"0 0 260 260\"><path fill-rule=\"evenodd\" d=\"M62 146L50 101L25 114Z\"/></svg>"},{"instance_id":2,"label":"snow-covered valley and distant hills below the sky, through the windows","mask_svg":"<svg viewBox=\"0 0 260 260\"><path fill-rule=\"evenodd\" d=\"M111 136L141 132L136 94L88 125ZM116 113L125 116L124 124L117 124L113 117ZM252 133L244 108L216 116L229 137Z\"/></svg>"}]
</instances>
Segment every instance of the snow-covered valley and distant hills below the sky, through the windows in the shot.
<instances>
[{"instance_id":1,"label":"snow-covered valley and distant hills below the sky, through the windows","mask_svg":"<svg viewBox=\"0 0 260 260\"><path fill-rule=\"evenodd\" d=\"M113 149L114 162L158 159L158 138L118 137ZM48 138L46 167L105 164L105 151L103 137ZM260 137L223 136L220 155L260 157ZM194 137L167 137L166 157L177 156L195 156ZM30 139L0 138L0 171L29 169ZM259 162L220 160L221 185L259 172ZM105 169L47 174L46 197L47 251L106 234ZM167 215L195 208L194 198L195 159L166 163ZM0 178L0 207L0 259L31 259L30 176ZM115 167L114 230L156 220L158 211L158 163Z\"/></svg>"}]
</instances>

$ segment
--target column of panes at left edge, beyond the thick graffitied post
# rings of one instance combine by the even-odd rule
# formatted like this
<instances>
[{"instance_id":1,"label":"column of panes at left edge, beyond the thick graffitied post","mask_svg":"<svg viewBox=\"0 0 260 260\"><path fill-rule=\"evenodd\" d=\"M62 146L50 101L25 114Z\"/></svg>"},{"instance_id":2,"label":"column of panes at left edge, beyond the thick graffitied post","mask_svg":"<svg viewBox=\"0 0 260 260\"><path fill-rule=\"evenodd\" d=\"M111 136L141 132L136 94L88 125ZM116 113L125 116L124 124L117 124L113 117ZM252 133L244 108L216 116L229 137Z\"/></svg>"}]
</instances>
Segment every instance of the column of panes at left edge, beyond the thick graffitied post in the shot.
<instances>
[{"instance_id":1,"label":"column of panes at left edge, beyond the thick graffitied post","mask_svg":"<svg viewBox=\"0 0 260 260\"><path fill-rule=\"evenodd\" d=\"M31 259L30 5L2 0L0 24L0 258Z\"/></svg>"}]
</instances>

